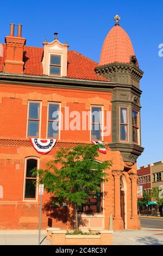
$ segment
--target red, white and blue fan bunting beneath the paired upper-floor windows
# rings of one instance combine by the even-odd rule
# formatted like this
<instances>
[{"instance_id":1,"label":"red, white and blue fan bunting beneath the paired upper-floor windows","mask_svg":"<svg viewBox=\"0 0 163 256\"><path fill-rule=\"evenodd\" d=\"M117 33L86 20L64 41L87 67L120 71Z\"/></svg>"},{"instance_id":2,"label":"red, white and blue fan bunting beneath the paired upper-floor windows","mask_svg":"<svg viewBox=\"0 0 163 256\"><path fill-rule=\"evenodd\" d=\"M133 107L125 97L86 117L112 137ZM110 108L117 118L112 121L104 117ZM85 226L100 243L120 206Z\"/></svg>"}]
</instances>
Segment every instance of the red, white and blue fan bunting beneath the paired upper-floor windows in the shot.
<instances>
[{"instance_id":1,"label":"red, white and blue fan bunting beneath the paired upper-floor windows","mask_svg":"<svg viewBox=\"0 0 163 256\"><path fill-rule=\"evenodd\" d=\"M30 142L32 143L34 149L42 155L48 154L54 147L56 141L57 139L30 138Z\"/></svg>"}]
</instances>

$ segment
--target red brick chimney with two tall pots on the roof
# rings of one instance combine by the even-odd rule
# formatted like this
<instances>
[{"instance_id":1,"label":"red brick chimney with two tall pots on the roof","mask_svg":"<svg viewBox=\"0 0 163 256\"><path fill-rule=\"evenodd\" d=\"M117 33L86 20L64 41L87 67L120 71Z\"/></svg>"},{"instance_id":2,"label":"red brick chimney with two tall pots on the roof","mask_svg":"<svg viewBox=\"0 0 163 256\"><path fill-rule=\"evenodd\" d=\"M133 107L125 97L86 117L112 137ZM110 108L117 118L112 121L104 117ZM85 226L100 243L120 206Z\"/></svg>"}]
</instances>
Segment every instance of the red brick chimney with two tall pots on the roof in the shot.
<instances>
[{"instance_id":1,"label":"red brick chimney with two tall pots on the roof","mask_svg":"<svg viewBox=\"0 0 163 256\"><path fill-rule=\"evenodd\" d=\"M4 72L23 74L23 50L26 39L22 38L22 25L17 25L17 36L14 36L15 25L10 24L10 35L5 37L6 54L4 60Z\"/></svg>"}]
</instances>

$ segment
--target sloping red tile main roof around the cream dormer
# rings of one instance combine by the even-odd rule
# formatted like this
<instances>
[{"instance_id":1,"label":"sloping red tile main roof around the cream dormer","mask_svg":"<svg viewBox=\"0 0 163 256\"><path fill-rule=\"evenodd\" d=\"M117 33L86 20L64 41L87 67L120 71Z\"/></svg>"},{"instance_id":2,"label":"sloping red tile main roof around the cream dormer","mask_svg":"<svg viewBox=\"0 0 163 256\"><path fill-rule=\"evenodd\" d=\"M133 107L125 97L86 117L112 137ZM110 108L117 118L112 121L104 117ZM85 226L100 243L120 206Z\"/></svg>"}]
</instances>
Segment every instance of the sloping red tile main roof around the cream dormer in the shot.
<instances>
[{"instance_id":1,"label":"sloping red tile main roof around the cream dormer","mask_svg":"<svg viewBox=\"0 0 163 256\"><path fill-rule=\"evenodd\" d=\"M3 44L3 57L0 57L0 72L3 72L5 56L5 45ZM42 57L43 48L24 46L23 62L24 64L24 74L26 75L43 75L42 68ZM92 80L92 81L103 81L108 82L103 76L96 74L94 71L98 64L93 60L83 56L76 51L68 51L68 78L76 78L81 80Z\"/></svg>"}]
</instances>

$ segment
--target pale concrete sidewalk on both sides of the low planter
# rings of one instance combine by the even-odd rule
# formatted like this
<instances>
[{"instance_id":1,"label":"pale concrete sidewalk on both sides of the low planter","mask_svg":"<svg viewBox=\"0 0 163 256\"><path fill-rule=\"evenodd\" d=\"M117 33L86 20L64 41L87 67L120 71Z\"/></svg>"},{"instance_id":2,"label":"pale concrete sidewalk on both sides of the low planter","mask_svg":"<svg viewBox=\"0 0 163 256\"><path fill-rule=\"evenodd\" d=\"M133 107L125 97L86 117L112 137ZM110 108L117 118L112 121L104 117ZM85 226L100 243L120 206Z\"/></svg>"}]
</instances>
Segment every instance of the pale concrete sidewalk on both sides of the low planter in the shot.
<instances>
[{"instance_id":1,"label":"pale concrete sidewalk on both sides of the low planter","mask_svg":"<svg viewBox=\"0 0 163 256\"><path fill-rule=\"evenodd\" d=\"M38 245L38 231L0 230L0 245ZM51 245L46 239L45 230L41 231L41 245ZM113 245L163 245L163 227L162 230L143 228L115 232Z\"/></svg>"}]
</instances>

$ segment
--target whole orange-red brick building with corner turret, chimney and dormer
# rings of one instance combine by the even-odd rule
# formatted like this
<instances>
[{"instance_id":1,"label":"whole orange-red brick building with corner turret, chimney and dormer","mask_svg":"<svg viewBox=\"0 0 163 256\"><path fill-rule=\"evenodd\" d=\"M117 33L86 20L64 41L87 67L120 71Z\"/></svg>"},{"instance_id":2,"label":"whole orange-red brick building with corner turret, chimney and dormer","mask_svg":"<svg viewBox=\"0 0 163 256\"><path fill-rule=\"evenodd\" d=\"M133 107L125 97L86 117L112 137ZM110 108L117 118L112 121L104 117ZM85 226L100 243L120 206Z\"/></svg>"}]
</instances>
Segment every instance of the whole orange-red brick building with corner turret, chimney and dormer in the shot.
<instances>
[{"instance_id":1,"label":"whole orange-red brick building with corner turret, chimney and dormer","mask_svg":"<svg viewBox=\"0 0 163 256\"><path fill-rule=\"evenodd\" d=\"M105 38L99 63L68 51L57 33L42 48L26 46L21 25L17 36L10 25L0 56L0 229L37 229L40 199L33 185L37 178L30 170L45 167L60 147L91 141L104 141L106 154L99 153L97 161L112 160L113 165L107 170L109 181L101 186L102 196L79 216L86 223L83 228L109 229L111 215L115 230L140 228L136 160L143 151L139 89L143 72L119 20L116 16ZM57 142L42 155L30 138L38 147ZM65 206L57 212L48 208L48 199L44 194L42 228L49 218L53 227L70 228Z\"/></svg>"}]
</instances>

